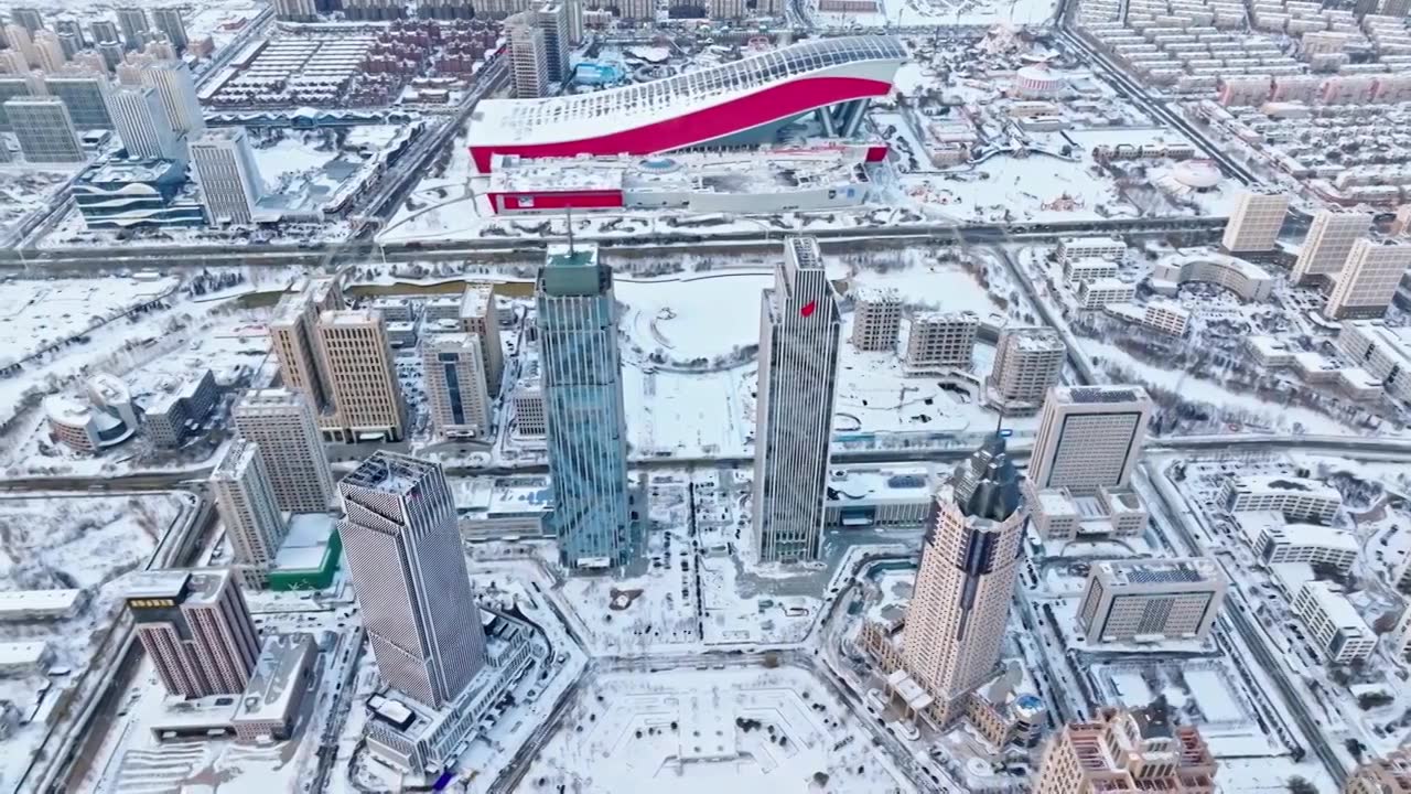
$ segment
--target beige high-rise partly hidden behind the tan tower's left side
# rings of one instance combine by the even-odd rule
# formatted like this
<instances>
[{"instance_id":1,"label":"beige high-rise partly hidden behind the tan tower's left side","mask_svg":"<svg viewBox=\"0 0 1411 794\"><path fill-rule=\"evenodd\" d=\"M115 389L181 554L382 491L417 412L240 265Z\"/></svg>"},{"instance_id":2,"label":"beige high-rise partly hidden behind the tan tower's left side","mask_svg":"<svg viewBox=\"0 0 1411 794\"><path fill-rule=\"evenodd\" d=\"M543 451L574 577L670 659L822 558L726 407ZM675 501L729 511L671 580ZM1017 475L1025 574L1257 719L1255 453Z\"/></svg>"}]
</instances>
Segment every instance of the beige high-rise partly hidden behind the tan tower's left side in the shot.
<instances>
[{"instance_id":1,"label":"beige high-rise partly hidden behind the tan tower's left side","mask_svg":"<svg viewBox=\"0 0 1411 794\"><path fill-rule=\"evenodd\" d=\"M310 278L298 292L279 298L274 316L265 324L270 346L279 360L279 379L285 389L301 391L316 414L333 407L332 387L319 356L319 315L343 307L336 278Z\"/></svg>"}]
</instances>

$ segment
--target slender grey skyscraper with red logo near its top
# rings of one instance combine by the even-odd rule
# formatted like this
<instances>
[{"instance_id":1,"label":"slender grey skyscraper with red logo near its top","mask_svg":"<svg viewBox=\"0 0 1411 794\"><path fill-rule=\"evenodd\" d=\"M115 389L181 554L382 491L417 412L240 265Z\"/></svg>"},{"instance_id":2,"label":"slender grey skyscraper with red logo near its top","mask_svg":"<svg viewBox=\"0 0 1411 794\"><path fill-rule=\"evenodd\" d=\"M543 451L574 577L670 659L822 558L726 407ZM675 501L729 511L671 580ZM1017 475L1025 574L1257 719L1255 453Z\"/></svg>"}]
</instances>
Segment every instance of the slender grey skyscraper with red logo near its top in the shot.
<instances>
[{"instance_id":1,"label":"slender grey skyscraper with red logo near its top","mask_svg":"<svg viewBox=\"0 0 1411 794\"><path fill-rule=\"evenodd\" d=\"M841 326L818 242L787 237L759 304L753 533L766 562L821 551Z\"/></svg>"}]
</instances>

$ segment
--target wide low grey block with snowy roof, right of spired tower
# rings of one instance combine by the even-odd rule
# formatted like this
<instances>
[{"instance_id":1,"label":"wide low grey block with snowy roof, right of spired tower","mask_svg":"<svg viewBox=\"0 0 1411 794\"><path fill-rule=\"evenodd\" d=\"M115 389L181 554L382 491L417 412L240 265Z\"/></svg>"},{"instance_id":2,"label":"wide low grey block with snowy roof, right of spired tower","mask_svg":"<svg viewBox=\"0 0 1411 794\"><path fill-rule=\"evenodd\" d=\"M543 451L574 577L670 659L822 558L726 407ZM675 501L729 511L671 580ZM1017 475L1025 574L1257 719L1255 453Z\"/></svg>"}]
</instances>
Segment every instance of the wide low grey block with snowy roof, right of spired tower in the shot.
<instances>
[{"instance_id":1,"label":"wide low grey block with snowy roof, right of spired tower","mask_svg":"<svg viewBox=\"0 0 1411 794\"><path fill-rule=\"evenodd\" d=\"M1225 588L1219 567L1204 557L1096 562L1078 626L1089 643L1205 641Z\"/></svg>"}]
</instances>

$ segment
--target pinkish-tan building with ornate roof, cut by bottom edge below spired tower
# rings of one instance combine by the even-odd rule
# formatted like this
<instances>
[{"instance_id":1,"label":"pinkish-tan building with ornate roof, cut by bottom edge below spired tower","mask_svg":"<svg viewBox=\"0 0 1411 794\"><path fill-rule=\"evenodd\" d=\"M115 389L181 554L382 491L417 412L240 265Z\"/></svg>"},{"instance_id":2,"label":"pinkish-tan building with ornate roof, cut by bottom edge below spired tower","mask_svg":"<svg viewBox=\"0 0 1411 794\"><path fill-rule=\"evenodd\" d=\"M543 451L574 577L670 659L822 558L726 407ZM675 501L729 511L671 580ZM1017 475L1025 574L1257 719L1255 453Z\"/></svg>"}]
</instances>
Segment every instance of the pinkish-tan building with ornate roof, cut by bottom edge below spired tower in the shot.
<instances>
[{"instance_id":1,"label":"pinkish-tan building with ornate roof, cut by bottom edge below spired tower","mask_svg":"<svg viewBox=\"0 0 1411 794\"><path fill-rule=\"evenodd\" d=\"M1201 732L1171 725L1163 699L1140 711L1102 708L1091 722L1065 725L1044 747L1030 791L1215 794L1216 770Z\"/></svg>"}]
</instances>

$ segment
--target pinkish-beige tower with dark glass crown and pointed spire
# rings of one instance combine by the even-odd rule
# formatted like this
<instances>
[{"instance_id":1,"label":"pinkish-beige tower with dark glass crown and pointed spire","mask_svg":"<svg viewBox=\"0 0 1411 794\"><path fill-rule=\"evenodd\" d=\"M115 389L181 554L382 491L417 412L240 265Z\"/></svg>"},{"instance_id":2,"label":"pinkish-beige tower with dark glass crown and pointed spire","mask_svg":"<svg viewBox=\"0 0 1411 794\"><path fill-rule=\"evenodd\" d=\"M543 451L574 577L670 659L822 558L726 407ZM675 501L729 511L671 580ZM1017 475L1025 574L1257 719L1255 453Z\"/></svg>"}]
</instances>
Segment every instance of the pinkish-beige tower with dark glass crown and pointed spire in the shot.
<instances>
[{"instance_id":1,"label":"pinkish-beige tower with dark glass crown and pointed spire","mask_svg":"<svg viewBox=\"0 0 1411 794\"><path fill-rule=\"evenodd\" d=\"M996 432L937 492L906 610L902 665L945 722L999 664L1023 526L1020 476Z\"/></svg>"}]
</instances>

